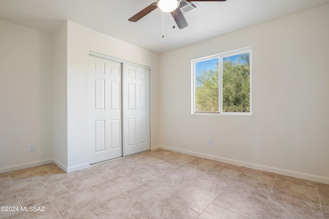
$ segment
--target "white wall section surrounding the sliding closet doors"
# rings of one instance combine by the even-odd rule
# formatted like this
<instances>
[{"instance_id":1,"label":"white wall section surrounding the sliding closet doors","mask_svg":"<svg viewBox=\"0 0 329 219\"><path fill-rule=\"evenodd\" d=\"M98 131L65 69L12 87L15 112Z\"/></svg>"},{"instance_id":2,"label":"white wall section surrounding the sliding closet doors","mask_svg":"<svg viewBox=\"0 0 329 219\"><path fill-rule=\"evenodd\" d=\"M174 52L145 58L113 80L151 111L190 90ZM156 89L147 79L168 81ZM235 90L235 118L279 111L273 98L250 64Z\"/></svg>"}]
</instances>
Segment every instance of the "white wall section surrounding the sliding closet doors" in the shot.
<instances>
[{"instance_id":1,"label":"white wall section surrounding the sliding closet doors","mask_svg":"<svg viewBox=\"0 0 329 219\"><path fill-rule=\"evenodd\" d=\"M67 22L68 172L89 165L89 51L151 67L151 147L159 145L158 55L92 29Z\"/></svg>"}]
</instances>

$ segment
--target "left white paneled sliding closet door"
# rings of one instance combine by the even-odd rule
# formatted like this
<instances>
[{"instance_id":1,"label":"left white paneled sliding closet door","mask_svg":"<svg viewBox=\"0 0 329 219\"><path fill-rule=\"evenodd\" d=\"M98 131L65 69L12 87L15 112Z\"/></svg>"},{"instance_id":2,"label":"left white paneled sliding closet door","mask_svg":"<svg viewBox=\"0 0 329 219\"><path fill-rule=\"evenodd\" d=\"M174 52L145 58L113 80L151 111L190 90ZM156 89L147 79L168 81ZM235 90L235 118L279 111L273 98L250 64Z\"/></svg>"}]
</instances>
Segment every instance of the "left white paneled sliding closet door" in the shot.
<instances>
[{"instance_id":1,"label":"left white paneled sliding closet door","mask_svg":"<svg viewBox=\"0 0 329 219\"><path fill-rule=\"evenodd\" d=\"M122 156L121 63L89 55L89 163Z\"/></svg>"}]
</instances>

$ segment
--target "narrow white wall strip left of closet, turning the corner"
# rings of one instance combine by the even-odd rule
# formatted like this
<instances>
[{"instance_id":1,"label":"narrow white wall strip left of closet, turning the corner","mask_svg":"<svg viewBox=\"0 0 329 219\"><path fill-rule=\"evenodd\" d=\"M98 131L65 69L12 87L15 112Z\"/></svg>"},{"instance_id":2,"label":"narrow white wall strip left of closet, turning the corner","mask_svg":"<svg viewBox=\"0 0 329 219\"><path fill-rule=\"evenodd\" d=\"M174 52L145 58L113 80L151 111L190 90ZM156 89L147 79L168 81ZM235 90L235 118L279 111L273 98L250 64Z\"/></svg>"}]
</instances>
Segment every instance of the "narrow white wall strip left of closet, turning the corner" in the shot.
<instances>
[{"instance_id":1,"label":"narrow white wall strip left of closet, turning the corner","mask_svg":"<svg viewBox=\"0 0 329 219\"><path fill-rule=\"evenodd\" d=\"M53 160L67 169L67 23L53 35Z\"/></svg>"}]
</instances>

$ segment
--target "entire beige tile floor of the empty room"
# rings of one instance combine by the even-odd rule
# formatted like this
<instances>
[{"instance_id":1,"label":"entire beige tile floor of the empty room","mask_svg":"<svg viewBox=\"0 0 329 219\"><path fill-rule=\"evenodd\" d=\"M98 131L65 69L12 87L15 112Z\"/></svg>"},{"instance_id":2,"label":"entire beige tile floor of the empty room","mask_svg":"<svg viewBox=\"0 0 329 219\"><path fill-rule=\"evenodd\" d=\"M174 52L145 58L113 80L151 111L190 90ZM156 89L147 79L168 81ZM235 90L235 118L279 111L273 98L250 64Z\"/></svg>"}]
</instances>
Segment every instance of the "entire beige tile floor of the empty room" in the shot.
<instances>
[{"instance_id":1,"label":"entire beige tile floor of the empty room","mask_svg":"<svg viewBox=\"0 0 329 219\"><path fill-rule=\"evenodd\" d=\"M0 206L19 210L0 218L328 219L329 185L158 149L0 174Z\"/></svg>"}]
</instances>

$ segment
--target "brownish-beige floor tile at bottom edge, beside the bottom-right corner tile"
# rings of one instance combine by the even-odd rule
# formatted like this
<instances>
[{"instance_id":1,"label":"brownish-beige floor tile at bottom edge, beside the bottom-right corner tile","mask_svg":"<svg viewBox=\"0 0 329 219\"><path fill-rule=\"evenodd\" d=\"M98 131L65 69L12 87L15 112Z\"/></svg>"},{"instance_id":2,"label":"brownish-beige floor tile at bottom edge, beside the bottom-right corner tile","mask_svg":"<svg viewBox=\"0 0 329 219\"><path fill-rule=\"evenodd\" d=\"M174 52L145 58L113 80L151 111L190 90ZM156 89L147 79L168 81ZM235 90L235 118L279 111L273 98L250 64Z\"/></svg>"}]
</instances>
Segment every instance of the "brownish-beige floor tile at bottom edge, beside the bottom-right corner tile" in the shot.
<instances>
[{"instance_id":1,"label":"brownish-beige floor tile at bottom edge, beside the bottom-right corner tile","mask_svg":"<svg viewBox=\"0 0 329 219\"><path fill-rule=\"evenodd\" d=\"M271 193L262 218L322 218L319 205Z\"/></svg>"}]
</instances>

